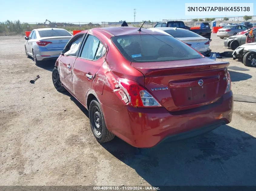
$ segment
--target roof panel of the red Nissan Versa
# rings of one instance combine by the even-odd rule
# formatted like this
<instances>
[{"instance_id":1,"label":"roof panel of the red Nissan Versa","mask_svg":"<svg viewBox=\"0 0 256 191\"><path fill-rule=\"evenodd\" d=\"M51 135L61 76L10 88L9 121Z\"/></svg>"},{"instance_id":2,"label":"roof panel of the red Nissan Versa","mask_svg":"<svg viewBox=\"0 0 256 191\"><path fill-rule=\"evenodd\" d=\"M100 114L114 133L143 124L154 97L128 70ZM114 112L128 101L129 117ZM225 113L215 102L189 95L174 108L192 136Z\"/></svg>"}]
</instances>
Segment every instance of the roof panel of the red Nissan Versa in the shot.
<instances>
[{"instance_id":1,"label":"roof panel of the red Nissan Versa","mask_svg":"<svg viewBox=\"0 0 256 191\"><path fill-rule=\"evenodd\" d=\"M141 32L138 31L138 27L103 27L103 28L94 28L93 30L104 30L110 33L112 36L121 36L121 35L136 35L136 34L156 34L156 35L168 35L168 33L163 33L161 31L153 31L141 28Z\"/></svg>"}]
</instances>

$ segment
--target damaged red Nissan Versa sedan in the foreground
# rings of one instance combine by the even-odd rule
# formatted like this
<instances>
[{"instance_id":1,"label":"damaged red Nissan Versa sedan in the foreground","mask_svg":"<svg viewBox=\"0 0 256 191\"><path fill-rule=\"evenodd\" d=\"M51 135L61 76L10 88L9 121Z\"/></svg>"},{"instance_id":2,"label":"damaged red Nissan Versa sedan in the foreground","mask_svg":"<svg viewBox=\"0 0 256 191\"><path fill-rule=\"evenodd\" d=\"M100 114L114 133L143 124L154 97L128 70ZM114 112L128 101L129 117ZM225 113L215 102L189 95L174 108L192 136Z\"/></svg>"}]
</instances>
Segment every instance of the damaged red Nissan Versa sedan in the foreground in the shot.
<instances>
[{"instance_id":1,"label":"damaged red Nissan Versa sedan in the foreground","mask_svg":"<svg viewBox=\"0 0 256 191\"><path fill-rule=\"evenodd\" d=\"M228 65L167 33L94 28L69 40L52 80L58 91L68 90L89 110L98 142L116 135L147 148L231 122Z\"/></svg>"}]
</instances>

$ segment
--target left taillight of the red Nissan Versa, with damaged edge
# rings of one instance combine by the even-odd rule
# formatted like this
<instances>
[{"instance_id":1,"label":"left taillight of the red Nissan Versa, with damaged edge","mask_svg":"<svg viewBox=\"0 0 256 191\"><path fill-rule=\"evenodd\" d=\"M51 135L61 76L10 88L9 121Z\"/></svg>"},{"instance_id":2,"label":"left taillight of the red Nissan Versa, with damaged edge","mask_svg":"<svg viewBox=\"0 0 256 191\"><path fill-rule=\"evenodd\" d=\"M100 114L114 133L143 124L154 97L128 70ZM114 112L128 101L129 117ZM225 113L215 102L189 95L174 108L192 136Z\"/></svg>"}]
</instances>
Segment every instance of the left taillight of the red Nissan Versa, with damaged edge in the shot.
<instances>
[{"instance_id":1,"label":"left taillight of the red Nissan Versa, with damaged edge","mask_svg":"<svg viewBox=\"0 0 256 191\"><path fill-rule=\"evenodd\" d=\"M145 88L135 81L118 78L118 88L114 90L121 100L132 107L162 107ZM117 86L115 86L117 87Z\"/></svg>"}]
</instances>

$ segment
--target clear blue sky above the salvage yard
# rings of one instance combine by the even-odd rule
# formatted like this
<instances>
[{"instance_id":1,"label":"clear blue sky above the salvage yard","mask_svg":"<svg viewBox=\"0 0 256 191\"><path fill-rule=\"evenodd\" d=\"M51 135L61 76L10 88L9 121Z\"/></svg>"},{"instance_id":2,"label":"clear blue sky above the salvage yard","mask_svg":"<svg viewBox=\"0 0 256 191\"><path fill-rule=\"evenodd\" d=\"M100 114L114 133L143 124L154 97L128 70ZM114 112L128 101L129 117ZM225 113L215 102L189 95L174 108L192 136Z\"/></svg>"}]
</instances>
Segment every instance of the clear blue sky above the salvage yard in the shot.
<instances>
[{"instance_id":1,"label":"clear blue sky above the salvage yard","mask_svg":"<svg viewBox=\"0 0 256 191\"><path fill-rule=\"evenodd\" d=\"M205 0L2 0L0 21L19 19L21 22L42 23L48 19L56 22L115 22L120 20L131 22L134 20L134 8L137 11L135 21L197 18L197 16L185 16L185 3L206 2ZM253 3L255 0L210 2L230 2L232 4ZM256 3L254 3L254 15L255 12ZM198 18L205 17L214 16L198 16Z\"/></svg>"}]
</instances>

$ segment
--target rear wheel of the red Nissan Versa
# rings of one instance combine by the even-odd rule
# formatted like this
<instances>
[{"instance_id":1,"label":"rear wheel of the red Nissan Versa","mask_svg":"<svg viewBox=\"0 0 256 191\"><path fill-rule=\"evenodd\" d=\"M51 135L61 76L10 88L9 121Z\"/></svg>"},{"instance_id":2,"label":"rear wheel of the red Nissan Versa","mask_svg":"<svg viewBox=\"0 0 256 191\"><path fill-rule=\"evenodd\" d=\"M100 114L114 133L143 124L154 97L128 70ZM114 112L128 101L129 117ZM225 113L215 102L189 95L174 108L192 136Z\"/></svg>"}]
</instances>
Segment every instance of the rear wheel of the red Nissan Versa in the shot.
<instances>
[{"instance_id":1,"label":"rear wheel of the red Nissan Versa","mask_svg":"<svg viewBox=\"0 0 256 191\"><path fill-rule=\"evenodd\" d=\"M115 135L108 131L100 103L97 99L91 100L89 107L91 131L100 143L111 141Z\"/></svg>"}]
</instances>

